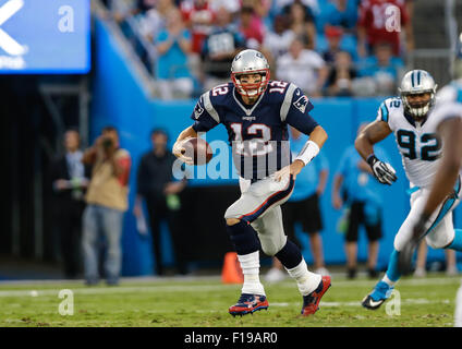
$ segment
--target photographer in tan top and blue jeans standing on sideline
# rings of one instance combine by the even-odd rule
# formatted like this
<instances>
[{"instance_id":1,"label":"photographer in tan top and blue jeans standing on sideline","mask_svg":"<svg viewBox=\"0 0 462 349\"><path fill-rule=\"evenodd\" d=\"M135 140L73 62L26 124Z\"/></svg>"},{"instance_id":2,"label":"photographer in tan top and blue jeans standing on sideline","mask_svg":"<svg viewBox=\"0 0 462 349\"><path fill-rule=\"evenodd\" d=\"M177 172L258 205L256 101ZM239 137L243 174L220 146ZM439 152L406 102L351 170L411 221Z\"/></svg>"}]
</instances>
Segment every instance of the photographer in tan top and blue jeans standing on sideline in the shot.
<instances>
[{"instance_id":1,"label":"photographer in tan top and blue jeans standing on sideline","mask_svg":"<svg viewBox=\"0 0 462 349\"><path fill-rule=\"evenodd\" d=\"M117 129L106 127L95 144L85 151L82 161L93 166L83 216L85 282L92 286L99 281L98 250L102 234L107 243L106 282L115 286L122 263L121 236L123 214L129 207L131 157L120 147Z\"/></svg>"}]
</instances>

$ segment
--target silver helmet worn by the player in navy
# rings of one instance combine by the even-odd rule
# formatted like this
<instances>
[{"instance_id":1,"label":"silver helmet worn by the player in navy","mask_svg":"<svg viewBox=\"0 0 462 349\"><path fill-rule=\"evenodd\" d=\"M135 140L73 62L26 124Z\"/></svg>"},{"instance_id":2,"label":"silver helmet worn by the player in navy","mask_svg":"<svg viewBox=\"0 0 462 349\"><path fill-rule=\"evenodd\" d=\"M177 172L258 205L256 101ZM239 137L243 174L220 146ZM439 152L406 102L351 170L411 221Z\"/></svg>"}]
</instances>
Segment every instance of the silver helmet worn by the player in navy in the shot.
<instances>
[{"instance_id":1,"label":"silver helmet worn by the player in navy","mask_svg":"<svg viewBox=\"0 0 462 349\"><path fill-rule=\"evenodd\" d=\"M241 83L240 75L253 73L262 75L259 83ZM247 49L239 52L231 63L231 80L241 95L247 97L262 95L269 82L269 64L267 59L257 50Z\"/></svg>"}]
</instances>

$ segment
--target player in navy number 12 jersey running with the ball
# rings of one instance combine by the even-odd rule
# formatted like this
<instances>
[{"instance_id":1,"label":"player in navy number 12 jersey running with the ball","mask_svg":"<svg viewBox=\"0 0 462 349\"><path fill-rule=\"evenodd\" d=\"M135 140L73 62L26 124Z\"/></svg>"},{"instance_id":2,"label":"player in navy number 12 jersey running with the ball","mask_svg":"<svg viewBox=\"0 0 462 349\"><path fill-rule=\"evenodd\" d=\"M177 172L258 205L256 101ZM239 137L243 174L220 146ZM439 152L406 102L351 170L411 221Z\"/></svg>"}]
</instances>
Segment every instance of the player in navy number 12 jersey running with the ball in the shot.
<instances>
[{"instance_id":1,"label":"player in navy number 12 jersey running with the ball","mask_svg":"<svg viewBox=\"0 0 462 349\"><path fill-rule=\"evenodd\" d=\"M228 130L242 195L224 218L244 274L241 298L229 312L244 315L268 308L259 280L262 249L295 279L303 296L302 314L314 314L330 277L308 270L300 249L284 234L280 205L291 195L296 174L319 153L327 133L309 116L313 105L299 87L269 80L268 62L259 51L238 53L231 80L200 96L191 117L194 124L180 133L173 146L179 159L193 164L184 154L185 140L219 123ZM288 125L309 135L293 160Z\"/></svg>"}]
</instances>

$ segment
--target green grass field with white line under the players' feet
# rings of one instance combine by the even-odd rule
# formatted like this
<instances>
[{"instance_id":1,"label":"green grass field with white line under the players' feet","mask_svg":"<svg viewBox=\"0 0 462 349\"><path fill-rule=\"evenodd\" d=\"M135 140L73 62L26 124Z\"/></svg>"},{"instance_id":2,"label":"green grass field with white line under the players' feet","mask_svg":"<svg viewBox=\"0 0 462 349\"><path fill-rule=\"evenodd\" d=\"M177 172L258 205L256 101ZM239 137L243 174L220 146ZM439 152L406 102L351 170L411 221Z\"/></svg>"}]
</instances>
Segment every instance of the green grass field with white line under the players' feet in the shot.
<instances>
[{"instance_id":1,"label":"green grass field with white line under the players' feet","mask_svg":"<svg viewBox=\"0 0 462 349\"><path fill-rule=\"evenodd\" d=\"M240 286L223 285L218 277L130 279L118 287L101 284L92 288L82 282L0 282L0 327L453 326L460 277L436 274L423 279L403 278L397 287L399 297L377 311L368 311L360 303L375 282L333 276L319 311L311 317L299 315L302 299L290 279L266 285L268 311L242 317L228 314L240 296ZM60 303L70 301L59 298L62 289L73 292L72 315L59 313ZM389 313L394 313L387 314L387 304Z\"/></svg>"}]
</instances>

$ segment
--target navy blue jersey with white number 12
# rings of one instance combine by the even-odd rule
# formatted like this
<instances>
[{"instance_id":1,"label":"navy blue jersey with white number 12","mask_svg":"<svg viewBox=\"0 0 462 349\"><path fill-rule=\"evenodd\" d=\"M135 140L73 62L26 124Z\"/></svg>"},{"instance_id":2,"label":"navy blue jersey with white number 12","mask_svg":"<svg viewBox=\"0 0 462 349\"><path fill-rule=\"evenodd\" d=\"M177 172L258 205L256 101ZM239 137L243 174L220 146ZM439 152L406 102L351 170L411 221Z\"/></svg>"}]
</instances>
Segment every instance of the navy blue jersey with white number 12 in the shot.
<instances>
[{"instance_id":1,"label":"navy blue jersey with white number 12","mask_svg":"<svg viewBox=\"0 0 462 349\"><path fill-rule=\"evenodd\" d=\"M309 99L294 84L270 81L258 100L246 106L230 82L203 94L191 118L196 132L222 123L238 173L257 180L290 165L288 125L312 133L318 125L308 113L312 109Z\"/></svg>"}]
</instances>

